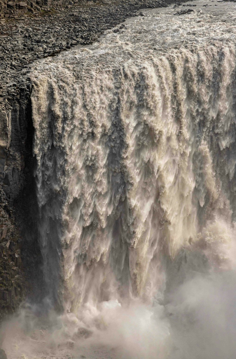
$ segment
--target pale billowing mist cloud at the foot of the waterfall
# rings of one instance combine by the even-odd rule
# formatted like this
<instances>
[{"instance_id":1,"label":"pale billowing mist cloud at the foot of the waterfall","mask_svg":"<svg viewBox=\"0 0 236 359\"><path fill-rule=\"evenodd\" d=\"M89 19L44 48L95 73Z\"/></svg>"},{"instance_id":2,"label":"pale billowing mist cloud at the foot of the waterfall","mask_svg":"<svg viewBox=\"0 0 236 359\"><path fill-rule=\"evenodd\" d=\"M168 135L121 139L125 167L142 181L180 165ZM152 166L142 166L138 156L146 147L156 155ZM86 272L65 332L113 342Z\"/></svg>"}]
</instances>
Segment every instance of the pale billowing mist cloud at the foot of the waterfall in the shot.
<instances>
[{"instance_id":1,"label":"pale billowing mist cloud at the foot of the waterfall","mask_svg":"<svg viewBox=\"0 0 236 359\"><path fill-rule=\"evenodd\" d=\"M25 304L1 326L1 347L10 359L235 357L235 270L195 272L157 297L150 305L87 303L60 316Z\"/></svg>"}]
</instances>

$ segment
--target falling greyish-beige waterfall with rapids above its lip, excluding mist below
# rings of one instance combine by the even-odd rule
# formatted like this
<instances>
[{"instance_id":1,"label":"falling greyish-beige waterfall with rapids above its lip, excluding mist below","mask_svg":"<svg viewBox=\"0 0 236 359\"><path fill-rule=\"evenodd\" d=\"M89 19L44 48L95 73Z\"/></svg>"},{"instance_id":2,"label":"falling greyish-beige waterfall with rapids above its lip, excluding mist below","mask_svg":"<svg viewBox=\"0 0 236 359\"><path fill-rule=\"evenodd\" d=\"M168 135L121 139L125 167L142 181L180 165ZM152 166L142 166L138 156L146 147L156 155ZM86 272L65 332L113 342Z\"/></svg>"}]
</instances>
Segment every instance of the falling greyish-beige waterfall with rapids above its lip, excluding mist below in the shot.
<instances>
[{"instance_id":1,"label":"falling greyish-beige waterfall with rapids above its lip, excluding mist below","mask_svg":"<svg viewBox=\"0 0 236 359\"><path fill-rule=\"evenodd\" d=\"M67 311L150 302L164 288L166 258L183 248L212 266L235 255L236 47L227 16L172 13L165 29L166 17L150 15L34 70L44 275Z\"/></svg>"}]
</instances>

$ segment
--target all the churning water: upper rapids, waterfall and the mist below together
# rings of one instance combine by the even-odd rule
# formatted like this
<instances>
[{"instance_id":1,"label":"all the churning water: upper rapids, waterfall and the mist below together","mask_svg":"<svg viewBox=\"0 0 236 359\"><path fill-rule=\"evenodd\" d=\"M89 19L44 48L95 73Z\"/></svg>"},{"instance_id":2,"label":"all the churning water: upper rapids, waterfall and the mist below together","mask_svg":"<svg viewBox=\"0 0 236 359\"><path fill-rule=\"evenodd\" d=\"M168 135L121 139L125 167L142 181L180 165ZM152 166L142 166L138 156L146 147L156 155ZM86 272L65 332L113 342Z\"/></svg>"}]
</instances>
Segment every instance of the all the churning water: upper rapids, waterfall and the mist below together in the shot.
<instances>
[{"instance_id":1,"label":"all the churning water: upper rapids, waterfall and the mist below together","mask_svg":"<svg viewBox=\"0 0 236 359\"><path fill-rule=\"evenodd\" d=\"M10 359L235 358L236 11L190 4L35 65L48 311Z\"/></svg>"}]
</instances>

